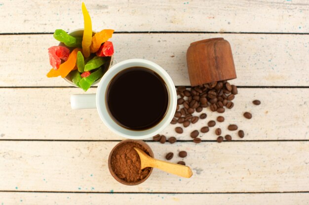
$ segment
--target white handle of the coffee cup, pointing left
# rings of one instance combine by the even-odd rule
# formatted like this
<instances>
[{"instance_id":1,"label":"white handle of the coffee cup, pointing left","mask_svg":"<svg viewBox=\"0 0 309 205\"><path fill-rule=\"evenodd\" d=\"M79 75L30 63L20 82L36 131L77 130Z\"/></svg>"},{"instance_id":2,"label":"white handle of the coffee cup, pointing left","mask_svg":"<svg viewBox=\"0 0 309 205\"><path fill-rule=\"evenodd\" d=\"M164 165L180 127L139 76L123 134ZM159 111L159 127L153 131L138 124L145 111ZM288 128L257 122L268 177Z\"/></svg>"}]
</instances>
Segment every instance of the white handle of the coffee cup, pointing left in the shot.
<instances>
[{"instance_id":1,"label":"white handle of the coffee cup, pointing left","mask_svg":"<svg viewBox=\"0 0 309 205\"><path fill-rule=\"evenodd\" d=\"M97 107L95 96L96 96L95 93L71 95L71 108L73 110L95 109Z\"/></svg>"}]
</instances>

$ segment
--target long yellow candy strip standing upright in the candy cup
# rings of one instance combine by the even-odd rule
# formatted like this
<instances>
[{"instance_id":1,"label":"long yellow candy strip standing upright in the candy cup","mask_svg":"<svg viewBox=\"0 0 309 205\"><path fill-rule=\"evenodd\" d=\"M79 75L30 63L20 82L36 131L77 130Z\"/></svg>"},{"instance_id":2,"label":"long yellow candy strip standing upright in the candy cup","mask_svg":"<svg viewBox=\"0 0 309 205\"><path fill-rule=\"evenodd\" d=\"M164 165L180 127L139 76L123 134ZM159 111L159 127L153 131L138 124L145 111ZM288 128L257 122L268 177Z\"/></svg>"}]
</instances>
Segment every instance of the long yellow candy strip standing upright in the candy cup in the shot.
<instances>
[{"instance_id":1,"label":"long yellow candy strip standing upright in the candy cup","mask_svg":"<svg viewBox=\"0 0 309 205\"><path fill-rule=\"evenodd\" d=\"M85 58L90 56L90 45L92 41L92 25L91 18L84 2L81 3L82 15L84 16L84 33L82 36L81 47L82 54Z\"/></svg>"}]
</instances>

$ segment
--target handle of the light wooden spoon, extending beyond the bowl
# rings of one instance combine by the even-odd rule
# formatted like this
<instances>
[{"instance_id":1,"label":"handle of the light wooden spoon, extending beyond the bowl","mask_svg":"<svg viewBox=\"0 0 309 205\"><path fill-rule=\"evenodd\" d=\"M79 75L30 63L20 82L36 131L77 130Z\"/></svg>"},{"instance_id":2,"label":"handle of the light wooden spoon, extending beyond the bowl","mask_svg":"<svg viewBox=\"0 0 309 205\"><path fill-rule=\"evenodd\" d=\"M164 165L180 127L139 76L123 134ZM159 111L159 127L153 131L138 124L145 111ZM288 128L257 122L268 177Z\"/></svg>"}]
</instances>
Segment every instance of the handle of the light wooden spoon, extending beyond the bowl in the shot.
<instances>
[{"instance_id":1,"label":"handle of the light wooden spoon, extending beyond the bowl","mask_svg":"<svg viewBox=\"0 0 309 205\"><path fill-rule=\"evenodd\" d=\"M174 174L174 175L178 175L178 176L182 176L186 178L190 178L193 175L190 167L180 165L180 164L165 162L165 161L161 161L161 160L154 159L154 158L152 159L153 160L151 160L151 163L149 163L151 167L160 169L170 174Z\"/></svg>"}]
</instances>

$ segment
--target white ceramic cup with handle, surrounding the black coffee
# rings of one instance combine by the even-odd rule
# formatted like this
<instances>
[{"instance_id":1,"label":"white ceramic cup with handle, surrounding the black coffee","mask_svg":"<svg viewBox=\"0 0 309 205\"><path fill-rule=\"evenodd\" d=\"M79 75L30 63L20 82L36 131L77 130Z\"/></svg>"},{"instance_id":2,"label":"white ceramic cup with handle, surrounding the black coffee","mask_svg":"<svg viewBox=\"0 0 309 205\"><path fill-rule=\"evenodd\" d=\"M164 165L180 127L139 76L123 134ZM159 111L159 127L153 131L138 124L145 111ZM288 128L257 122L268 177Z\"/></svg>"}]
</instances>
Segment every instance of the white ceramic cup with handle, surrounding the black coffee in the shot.
<instances>
[{"instance_id":1,"label":"white ceramic cup with handle, surrounding the black coffee","mask_svg":"<svg viewBox=\"0 0 309 205\"><path fill-rule=\"evenodd\" d=\"M145 130L131 130L117 124L110 116L106 104L106 92L112 79L120 71L135 66L146 67L148 69L153 70L163 79L168 90L169 103L165 116L154 127ZM155 64L152 61L145 59L127 59L117 63L116 65L113 65L101 79L96 94L75 94L71 96L72 109L96 108L100 118L109 129L111 129L116 134L122 137L134 140L153 137L154 135L161 132L173 119L176 111L176 106L177 106L177 93L172 79L162 67Z\"/></svg>"}]
</instances>

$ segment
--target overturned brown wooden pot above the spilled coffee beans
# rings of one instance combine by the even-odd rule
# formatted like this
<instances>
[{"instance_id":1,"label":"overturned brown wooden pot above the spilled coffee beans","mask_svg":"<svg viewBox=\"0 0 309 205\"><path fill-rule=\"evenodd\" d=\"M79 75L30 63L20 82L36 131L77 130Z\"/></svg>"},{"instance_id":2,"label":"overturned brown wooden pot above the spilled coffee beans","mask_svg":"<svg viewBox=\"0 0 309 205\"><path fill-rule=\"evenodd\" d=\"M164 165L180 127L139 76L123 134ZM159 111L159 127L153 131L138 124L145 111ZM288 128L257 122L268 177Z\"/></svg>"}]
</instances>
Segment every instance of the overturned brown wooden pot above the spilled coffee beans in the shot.
<instances>
[{"instance_id":1,"label":"overturned brown wooden pot above the spilled coffee beans","mask_svg":"<svg viewBox=\"0 0 309 205\"><path fill-rule=\"evenodd\" d=\"M232 49L224 38L191 43L187 64L191 86L236 78Z\"/></svg>"}]
</instances>

